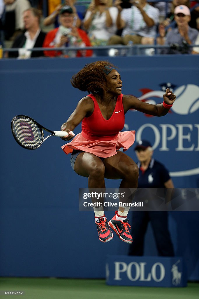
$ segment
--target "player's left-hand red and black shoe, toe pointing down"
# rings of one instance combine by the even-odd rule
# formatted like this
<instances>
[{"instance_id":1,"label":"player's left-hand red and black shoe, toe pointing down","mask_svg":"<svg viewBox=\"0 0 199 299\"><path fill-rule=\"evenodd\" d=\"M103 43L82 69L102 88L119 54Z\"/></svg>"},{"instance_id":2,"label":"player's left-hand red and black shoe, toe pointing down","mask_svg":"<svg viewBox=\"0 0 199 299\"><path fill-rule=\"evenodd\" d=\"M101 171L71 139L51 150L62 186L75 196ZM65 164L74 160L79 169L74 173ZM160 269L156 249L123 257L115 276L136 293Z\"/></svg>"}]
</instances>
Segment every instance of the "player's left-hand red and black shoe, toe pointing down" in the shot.
<instances>
[{"instance_id":1,"label":"player's left-hand red and black shoe, toe pointing down","mask_svg":"<svg viewBox=\"0 0 199 299\"><path fill-rule=\"evenodd\" d=\"M97 225L99 239L101 242L109 242L113 238L113 233L109 228L107 218L97 218L95 219L95 224Z\"/></svg>"}]
</instances>

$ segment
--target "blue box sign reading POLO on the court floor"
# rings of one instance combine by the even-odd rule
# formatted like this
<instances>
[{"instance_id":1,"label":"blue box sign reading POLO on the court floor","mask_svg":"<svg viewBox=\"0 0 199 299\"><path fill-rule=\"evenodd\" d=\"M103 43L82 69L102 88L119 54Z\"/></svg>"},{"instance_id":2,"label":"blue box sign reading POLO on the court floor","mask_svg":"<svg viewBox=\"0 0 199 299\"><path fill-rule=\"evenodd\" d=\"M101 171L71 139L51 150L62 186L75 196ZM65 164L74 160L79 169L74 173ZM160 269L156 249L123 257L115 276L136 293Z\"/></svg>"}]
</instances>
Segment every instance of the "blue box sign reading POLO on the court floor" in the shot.
<instances>
[{"instance_id":1,"label":"blue box sign reading POLO on the court floor","mask_svg":"<svg viewBox=\"0 0 199 299\"><path fill-rule=\"evenodd\" d=\"M109 285L184 287L186 282L182 257L107 256Z\"/></svg>"}]
</instances>

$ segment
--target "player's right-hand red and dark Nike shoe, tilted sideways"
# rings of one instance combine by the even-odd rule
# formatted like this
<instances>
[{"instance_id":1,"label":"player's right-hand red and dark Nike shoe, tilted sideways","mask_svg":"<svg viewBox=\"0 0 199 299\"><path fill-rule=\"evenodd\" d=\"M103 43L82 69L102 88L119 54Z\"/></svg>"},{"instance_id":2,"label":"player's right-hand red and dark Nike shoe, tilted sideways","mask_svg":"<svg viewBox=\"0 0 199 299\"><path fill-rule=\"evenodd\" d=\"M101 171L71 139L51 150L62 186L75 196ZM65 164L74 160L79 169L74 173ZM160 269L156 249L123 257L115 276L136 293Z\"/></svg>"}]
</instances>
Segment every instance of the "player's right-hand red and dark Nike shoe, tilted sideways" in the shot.
<instances>
[{"instance_id":1,"label":"player's right-hand red and dark Nike shoe, tilted sideways","mask_svg":"<svg viewBox=\"0 0 199 299\"><path fill-rule=\"evenodd\" d=\"M118 238L120 238L122 241L131 244L132 243L132 237L129 233L130 225L128 223L128 219L125 219L123 222L120 220L116 220L116 215L109 221L109 226L112 228L115 233L117 234Z\"/></svg>"}]
</instances>

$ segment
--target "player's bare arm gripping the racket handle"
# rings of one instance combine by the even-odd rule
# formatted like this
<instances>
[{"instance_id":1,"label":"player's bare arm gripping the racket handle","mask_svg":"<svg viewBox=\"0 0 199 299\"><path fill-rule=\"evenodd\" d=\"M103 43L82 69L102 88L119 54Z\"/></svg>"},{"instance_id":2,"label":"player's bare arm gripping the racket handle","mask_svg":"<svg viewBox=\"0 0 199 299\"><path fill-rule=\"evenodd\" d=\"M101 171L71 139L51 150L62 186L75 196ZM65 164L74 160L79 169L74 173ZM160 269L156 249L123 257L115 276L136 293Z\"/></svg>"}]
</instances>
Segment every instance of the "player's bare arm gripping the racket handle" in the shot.
<instances>
[{"instance_id":1,"label":"player's bare arm gripping the racket handle","mask_svg":"<svg viewBox=\"0 0 199 299\"><path fill-rule=\"evenodd\" d=\"M86 116L90 116L94 110L94 103L90 97L82 98L75 110L72 112L68 120L62 124L61 131L69 133L73 131L76 126L84 119ZM68 136L62 137L63 140L70 140L74 135L69 134Z\"/></svg>"}]
</instances>

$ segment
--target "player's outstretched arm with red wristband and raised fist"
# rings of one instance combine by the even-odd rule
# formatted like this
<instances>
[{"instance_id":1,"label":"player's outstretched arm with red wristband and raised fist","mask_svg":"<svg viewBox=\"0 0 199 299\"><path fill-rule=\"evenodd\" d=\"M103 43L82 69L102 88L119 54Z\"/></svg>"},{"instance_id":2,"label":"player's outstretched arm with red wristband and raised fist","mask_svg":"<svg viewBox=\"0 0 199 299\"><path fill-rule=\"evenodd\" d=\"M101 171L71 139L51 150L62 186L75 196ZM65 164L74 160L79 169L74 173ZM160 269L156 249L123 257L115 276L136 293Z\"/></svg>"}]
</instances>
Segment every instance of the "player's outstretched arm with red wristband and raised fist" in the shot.
<instances>
[{"instance_id":1,"label":"player's outstretched arm with red wristband and raised fist","mask_svg":"<svg viewBox=\"0 0 199 299\"><path fill-rule=\"evenodd\" d=\"M163 103L152 105L149 103L144 103L138 100L136 97L124 95L123 96L124 113L126 113L129 109L135 109L149 115L163 116L168 113L170 108L170 107L165 108L165 106L166 105L171 106L174 103L175 99L176 99L175 94L173 94L172 90L169 90L169 88L167 88L165 94L163 94L164 106Z\"/></svg>"}]
</instances>

